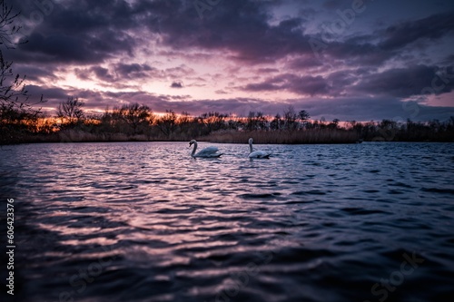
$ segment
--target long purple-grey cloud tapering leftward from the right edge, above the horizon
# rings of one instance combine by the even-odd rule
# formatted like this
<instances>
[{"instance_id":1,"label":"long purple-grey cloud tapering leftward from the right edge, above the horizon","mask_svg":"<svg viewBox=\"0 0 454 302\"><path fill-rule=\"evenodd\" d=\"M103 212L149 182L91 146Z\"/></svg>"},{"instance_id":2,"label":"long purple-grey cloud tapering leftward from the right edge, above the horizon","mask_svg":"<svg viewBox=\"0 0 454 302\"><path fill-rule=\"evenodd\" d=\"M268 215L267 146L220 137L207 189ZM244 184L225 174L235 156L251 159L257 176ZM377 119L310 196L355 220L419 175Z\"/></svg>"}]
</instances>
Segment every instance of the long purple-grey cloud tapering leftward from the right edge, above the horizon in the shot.
<instances>
[{"instance_id":1,"label":"long purple-grey cloud tapering leftward from the right edge, above the horizon","mask_svg":"<svg viewBox=\"0 0 454 302\"><path fill-rule=\"evenodd\" d=\"M381 73L360 68L319 76L297 76L283 73L261 83L249 83L243 88L251 92L287 90L292 93L313 95L380 95L408 98L413 95L449 93L454 90L452 66L412 65L392 68Z\"/></svg>"}]
</instances>

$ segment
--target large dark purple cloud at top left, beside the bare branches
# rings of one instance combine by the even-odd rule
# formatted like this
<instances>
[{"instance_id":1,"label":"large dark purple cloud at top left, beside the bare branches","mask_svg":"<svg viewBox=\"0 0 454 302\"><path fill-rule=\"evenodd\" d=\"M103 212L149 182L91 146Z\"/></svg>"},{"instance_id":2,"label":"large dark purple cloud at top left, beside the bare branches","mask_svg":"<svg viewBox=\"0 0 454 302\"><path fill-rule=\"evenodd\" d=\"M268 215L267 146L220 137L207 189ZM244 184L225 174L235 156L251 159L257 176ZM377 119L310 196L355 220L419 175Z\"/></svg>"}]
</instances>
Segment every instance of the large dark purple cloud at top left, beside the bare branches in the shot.
<instances>
[{"instance_id":1,"label":"large dark purple cloud at top left, beside the bare branches","mask_svg":"<svg viewBox=\"0 0 454 302\"><path fill-rule=\"evenodd\" d=\"M126 2L49 2L52 9L48 14L40 13L36 5L44 1L13 4L15 11L22 12L20 21L25 24L28 40L18 47L26 54L22 62L99 63L114 54L133 51L136 40L127 31L137 24ZM41 14L42 20L34 21L34 14Z\"/></svg>"}]
</instances>

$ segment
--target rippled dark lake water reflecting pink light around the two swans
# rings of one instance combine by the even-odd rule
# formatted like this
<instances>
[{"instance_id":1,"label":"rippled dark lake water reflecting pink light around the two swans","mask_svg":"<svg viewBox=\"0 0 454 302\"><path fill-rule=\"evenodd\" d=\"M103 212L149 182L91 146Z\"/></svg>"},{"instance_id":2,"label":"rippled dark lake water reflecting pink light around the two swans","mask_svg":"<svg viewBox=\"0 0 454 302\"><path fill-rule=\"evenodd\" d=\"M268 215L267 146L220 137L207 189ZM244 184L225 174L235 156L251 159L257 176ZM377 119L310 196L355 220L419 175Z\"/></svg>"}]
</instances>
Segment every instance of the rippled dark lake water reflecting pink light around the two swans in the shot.
<instances>
[{"instance_id":1,"label":"rippled dark lake water reflecting pink light around the two swans","mask_svg":"<svg viewBox=\"0 0 454 302\"><path fill-rule=\"evenodd\" d=\"M15 300L452 301L453 143L207 145L0 149Z\"/></svg>"}]
</instances>

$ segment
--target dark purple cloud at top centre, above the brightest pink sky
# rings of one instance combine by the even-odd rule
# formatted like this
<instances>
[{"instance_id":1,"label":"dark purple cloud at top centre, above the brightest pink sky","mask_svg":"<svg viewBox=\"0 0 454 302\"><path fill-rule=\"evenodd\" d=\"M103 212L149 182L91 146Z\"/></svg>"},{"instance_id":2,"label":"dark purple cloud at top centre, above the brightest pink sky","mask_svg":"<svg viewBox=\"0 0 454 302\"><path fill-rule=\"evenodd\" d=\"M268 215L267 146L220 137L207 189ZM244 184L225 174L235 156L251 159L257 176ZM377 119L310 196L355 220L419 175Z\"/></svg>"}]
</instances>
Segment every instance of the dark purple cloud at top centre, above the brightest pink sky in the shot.
<instances>
[{"instance_id":1,"label":"dark purple cloud at top centre, above the brightest pink sky","mask_svg":"<svg viewBox=\"0 0 454 302\"><path fill-rule=\"evenodd\" d=\"M183 5L185 3L186 5ZM271 25L260 1L223 1L201 20L192 2L143 2L141 7L159 20L163 43L175 49L229 50L238 60L262 63L286 54L311 52L301 34L304 21L291 18ZM148 24L154 30L155 22Z\"/></svg>"}]
</instances>

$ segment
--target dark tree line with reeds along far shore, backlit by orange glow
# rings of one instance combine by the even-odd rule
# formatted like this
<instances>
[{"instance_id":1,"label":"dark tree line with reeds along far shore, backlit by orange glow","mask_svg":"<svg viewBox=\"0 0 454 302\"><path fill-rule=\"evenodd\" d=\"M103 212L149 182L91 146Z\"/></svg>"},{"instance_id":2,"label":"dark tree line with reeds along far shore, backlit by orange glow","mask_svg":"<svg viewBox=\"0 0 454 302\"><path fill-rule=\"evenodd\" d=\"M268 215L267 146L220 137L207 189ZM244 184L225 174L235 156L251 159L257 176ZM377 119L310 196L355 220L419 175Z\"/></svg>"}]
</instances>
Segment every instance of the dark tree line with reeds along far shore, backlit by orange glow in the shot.
<instances>
[{"instance_id":1,"label":"dark tree line with reeds along far shore, backlit by orange glow","mask_svg":"<svg viewBox=\"0 0 454 302\"><path fill-rule=\"evenodd\" d=\"M258 143L346 143L360 141L453 141L454 117L447 122L331 122L311 120L309 112L292 106L283 114L249 112L237 117L220 112L192 116L173 110L154 113L147 105L123 104L103 114L84 112L84 102L69 97L54 117L18 108L1 110L1 143L36 141L190 141Z\"/></svg>"}]
</instances>

